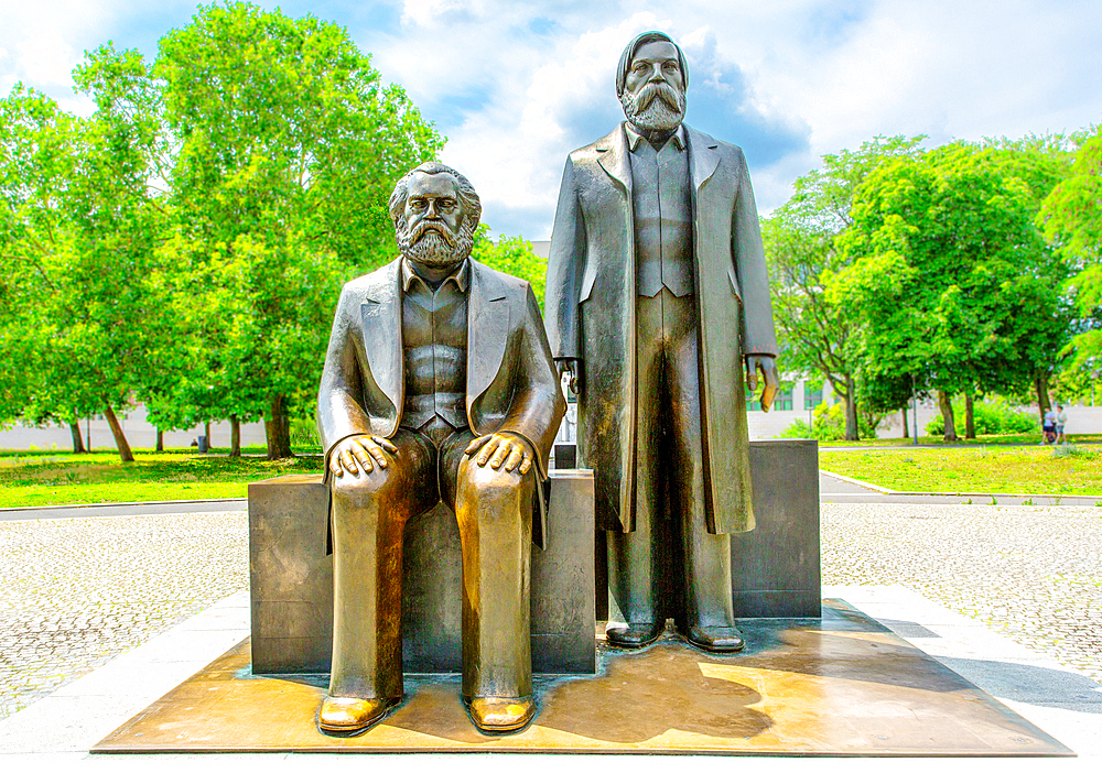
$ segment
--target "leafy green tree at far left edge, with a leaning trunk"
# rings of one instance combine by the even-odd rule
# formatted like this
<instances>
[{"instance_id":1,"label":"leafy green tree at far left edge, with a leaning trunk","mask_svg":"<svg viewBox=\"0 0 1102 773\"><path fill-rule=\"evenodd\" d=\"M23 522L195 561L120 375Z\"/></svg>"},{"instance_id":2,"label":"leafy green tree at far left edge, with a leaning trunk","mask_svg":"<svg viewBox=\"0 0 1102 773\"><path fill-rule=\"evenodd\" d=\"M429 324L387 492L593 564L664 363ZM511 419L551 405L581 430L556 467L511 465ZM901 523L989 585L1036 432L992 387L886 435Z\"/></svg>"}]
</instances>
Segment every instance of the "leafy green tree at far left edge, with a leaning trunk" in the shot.
<instances>
[{"instance_id":1,"label":"leafy green tree at far left edge, with a leaning trunk","mask_svg":"<svg viewBox=\"0 0 1102 773\"><path fill-rule=\"evenodd\" d=\"M90 118L20 87L0 108L4 282L21 330L8 340L34 368L21 395L25 420L53 417L72 428L77 416L102 413L130 461L116 412L131 405L153 368L161 209L141 117L105 107L99 73L95 58L76 73L97 100Z\"/></svg>"}]
</instances>

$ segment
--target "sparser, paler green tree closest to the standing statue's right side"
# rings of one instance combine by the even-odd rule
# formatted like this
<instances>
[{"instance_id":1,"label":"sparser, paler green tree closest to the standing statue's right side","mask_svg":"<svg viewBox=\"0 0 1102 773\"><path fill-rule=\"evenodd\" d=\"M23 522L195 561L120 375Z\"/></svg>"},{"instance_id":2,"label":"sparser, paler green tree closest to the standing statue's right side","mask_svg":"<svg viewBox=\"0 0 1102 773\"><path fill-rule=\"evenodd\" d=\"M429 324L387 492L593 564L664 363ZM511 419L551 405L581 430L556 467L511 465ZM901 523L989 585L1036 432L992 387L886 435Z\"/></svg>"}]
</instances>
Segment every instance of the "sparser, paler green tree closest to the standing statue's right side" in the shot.
<instances>
[{"instance_id":1,"label":"sparser, paler green tree closest to the standing statue's right side","mask_svg":"<svg viewBox=\"0 0 1102 773\"><path fill-rule=\"evenodd\" d=\"M824 155L822 170L796 181L796 194L763 222L774 317L788 370L818 372L845 403L845 439L861 434L857 410L862 349L860 309L827 295L849 265L838 240L853 225L854 195L879 165L912 157L923 138L876 138L857 151Z\"/></svg>"}]
</instances>

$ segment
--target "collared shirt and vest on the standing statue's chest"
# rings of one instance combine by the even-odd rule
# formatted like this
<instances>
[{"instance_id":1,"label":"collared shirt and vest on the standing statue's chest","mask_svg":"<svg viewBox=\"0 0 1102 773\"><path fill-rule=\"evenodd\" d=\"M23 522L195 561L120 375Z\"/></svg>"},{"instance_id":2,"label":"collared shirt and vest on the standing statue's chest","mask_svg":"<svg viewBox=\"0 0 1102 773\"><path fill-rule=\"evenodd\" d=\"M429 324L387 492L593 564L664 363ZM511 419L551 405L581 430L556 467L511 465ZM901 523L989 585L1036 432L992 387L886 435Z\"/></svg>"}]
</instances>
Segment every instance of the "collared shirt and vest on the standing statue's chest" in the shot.
<instances>
[{"instance_id":1,"label":"collared shirt and vest on the standing statue's chest","mask_svg":"<svg viewBox=\"0 0 1102 773\"><path fill-rule=\"evenodd\" d=\"M692 193L684 127L655 148L631 128L631 203L635 208L635 264L639 295L668 287L677 297L693 292Z\"/></svg>"}]
</instances>

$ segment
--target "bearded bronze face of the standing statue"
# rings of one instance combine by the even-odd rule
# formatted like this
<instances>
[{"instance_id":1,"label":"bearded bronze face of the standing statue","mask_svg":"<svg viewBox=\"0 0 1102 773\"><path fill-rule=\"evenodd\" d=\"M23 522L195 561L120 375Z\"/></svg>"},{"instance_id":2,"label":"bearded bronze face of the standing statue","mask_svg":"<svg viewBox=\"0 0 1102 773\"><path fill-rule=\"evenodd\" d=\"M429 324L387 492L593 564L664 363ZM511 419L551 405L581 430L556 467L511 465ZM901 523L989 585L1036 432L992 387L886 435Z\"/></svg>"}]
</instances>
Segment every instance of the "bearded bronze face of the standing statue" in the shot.
<instances>
[{"instance_id":1,"label":"bearded bronze face of the standing statue","mask_svg":"<svg viewBox=\"0 0 1102 773\"><path fill-rule=\"evenodd\" d=\"M672 43L639 46L620 94L624 115L641 133L670 133L685 117L684 77Z\"/></svg>"}]
</instances>

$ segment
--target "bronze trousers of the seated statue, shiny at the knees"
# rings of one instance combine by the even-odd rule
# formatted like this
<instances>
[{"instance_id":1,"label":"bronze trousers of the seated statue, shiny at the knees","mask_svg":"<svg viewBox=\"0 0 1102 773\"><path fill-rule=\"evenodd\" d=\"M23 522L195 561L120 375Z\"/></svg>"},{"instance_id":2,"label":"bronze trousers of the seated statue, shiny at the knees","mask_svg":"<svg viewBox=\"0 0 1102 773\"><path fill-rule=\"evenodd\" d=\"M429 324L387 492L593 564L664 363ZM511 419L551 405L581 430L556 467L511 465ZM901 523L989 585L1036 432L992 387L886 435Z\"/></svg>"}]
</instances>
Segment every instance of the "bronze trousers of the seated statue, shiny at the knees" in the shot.
<instances>
[{"instance_id":1,"label":"bronze trousers of the seated statue, shiny at the knees","mask_svg":"<svg viewBox=\"0 0 1102 773\"><path fill-rule=\"evenodd\" d=\"M402 538L443 500L463 554L463 695L532 693L530 562L536 468L478 467L469 429L439 449L417 432L390 438L388 466L333 478L333 666L329 695L402 696Z\"/></svg>"}]
</instances>

